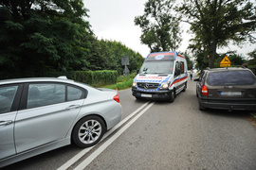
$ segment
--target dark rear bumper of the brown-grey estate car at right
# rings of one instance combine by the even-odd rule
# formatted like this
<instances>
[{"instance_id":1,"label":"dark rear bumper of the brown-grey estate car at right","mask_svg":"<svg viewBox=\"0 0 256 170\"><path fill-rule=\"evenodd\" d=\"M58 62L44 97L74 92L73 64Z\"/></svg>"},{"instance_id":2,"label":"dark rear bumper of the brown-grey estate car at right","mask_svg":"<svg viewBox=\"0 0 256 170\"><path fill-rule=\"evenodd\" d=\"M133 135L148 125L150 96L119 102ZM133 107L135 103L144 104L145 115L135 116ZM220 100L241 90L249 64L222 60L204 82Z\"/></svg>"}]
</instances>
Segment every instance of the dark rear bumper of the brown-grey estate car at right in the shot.
<instances>
[{"instance_id":1,"label":"dark rear bumper of the brown-grey estate car at right","mask_svg":"<svg viewBox=\"0 0 256 170\"><path fill-rule=\"evenodd\" d=\"M201 106L219 110L256 110L256 98L206 99L199 97Z\"/></svg>"}]
</instances>

